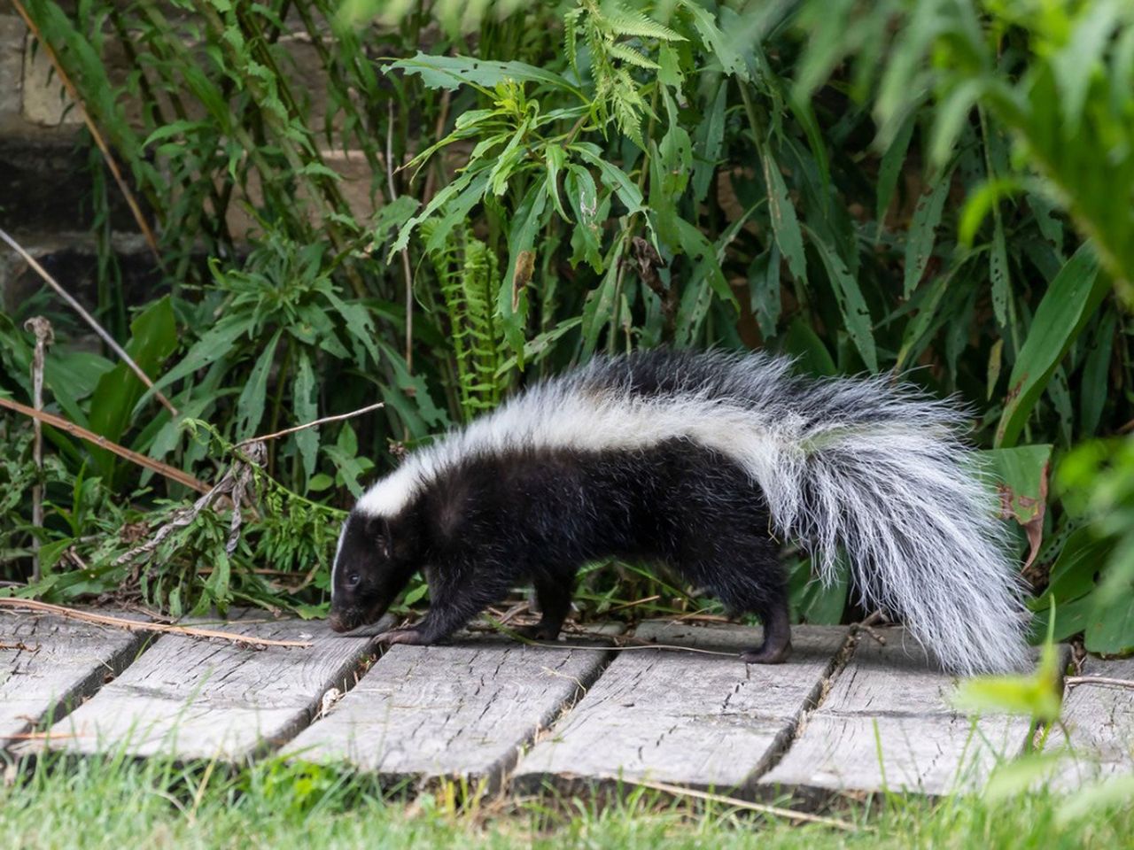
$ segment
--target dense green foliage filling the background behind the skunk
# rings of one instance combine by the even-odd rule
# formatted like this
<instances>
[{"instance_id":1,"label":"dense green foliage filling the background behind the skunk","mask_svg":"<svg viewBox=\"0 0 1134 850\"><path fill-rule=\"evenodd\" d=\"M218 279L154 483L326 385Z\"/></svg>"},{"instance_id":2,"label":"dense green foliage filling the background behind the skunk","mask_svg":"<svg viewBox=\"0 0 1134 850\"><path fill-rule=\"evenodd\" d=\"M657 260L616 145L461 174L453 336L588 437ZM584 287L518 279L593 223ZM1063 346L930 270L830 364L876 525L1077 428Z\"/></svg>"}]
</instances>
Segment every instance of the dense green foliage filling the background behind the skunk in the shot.
<instances>
[{"instance_id":1,"label":"dense green foliage filling the background behind the skunk","mask_svg":"<svg viewBox=\"0 0 1134 850\"><path fill-rule=\"evenodd\" d=\"M174 323L172 350L146 356L180 415L85 354L42 295L0 315L0 390L28 399L20 323L44 313L60 339L49 408L210 481L226 445L384 402L270 443L261 499L291 495L246 517L227 579L191 563L218 576L222 510L183 529L168 553L180 572L84 585L60 554L49 579L74 572L66 593L145 578L181 610L272 593L318 605L333 510L404 448L598 352L763 347L812 373L895 371L959 394L1029 576L1058 603L1057 636L1134 644L1120 613L1094 618L1095 594L1129 578L1112 526L1125 502L1076 504L1110 467L1068 458L1134 418L1127 3L28 8L155 226L162 287L125 291L107 254L95 306L120 339L133 320L132 345L155 345L159 317L168 343ZM121 78L102 61L109 40ZM296 67L297 41L312 67ZM115 190L92 163L109 246ZM367 173L365 197L342 163ZM188 419L219 440L189 439ZM154 528L185 498L48 434L49 554L75 545L90 562L102 544L88 538ZM18 450L3 474L26 488L26 434L12 423L6 439ZM1067 465L1077 483L1048 498L1046 470ZM5 509L14 575L25 504ZM809 583L789 560L801 619L854 615L844 583ZM252 572L277 567L301 589ZM652 595L714 610L636 564L589 569L581 593L586 613Z\"/></svg>"}]
</instances>

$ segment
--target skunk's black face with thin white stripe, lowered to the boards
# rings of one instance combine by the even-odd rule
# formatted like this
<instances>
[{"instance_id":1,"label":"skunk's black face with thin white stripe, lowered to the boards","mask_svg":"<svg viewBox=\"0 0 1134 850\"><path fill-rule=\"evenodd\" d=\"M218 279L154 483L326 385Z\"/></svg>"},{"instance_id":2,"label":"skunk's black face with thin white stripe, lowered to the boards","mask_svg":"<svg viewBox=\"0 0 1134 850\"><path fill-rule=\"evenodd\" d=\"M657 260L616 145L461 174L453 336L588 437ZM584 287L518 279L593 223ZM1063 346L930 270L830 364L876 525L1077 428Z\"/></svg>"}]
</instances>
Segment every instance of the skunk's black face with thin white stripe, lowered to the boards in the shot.
<instances>
[{"instance_id":1,"label":"skunk's black face with thin white stripe, lowered to the boards","mask_svg":"<svg viewBox=\"0 0 1134 850\"><path fill-rule=\"evenodd\" d=\"M388 519L357 509L342 524L331 568L328 619L335 631L376 622L409 583L416 564L406 556L406 542L393 537Z\"/></svg>"}]
</instances>

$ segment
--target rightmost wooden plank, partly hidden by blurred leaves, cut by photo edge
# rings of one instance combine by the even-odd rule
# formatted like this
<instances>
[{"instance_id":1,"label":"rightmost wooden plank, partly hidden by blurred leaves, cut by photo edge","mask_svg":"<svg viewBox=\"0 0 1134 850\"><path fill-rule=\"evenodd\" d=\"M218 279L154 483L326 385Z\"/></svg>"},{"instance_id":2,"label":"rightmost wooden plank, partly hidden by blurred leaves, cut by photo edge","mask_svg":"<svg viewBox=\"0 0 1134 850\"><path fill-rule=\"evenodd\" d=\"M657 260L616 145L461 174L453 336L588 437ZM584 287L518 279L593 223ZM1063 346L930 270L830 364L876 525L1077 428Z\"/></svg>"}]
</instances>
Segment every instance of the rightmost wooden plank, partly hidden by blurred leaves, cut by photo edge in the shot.
<instances>
[{"instance_id":1,"label":"rightmost wooden plank, partly hidden by blurred leaves, cut by photo edge","mask_svg":"<svg viewBox=\"0 0 1134 850\"><path fill-rule=\"evenodd\" d=\"M1083 675L1134 680L1134 658L1088 658ZM1052 730L1048 750L1066 745L1070 758L1058 766L1055 785L1072 790L1108 776L1134 773L1134 690L1076 685L1064 699L1064 728Z\"/></svg>"}]
</instances>

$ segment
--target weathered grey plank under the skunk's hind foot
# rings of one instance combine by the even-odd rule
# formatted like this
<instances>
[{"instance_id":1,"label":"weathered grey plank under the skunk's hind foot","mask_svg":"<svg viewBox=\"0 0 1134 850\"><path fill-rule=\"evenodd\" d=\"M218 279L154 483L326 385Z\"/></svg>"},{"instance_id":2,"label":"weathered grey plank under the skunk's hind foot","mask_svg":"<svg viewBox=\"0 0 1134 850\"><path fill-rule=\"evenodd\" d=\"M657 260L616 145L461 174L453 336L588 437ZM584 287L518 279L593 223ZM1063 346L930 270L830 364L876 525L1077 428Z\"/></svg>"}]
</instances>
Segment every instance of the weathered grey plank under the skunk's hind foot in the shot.
<instances>
[{"instance_id":1,"label":"weathered grey plank under the skunk's hind foot","mask_svg":"<svg viewBox=\"0 0 1134 850\"><path fill-rule=\"evenodd\" d=\"M663 648L619 653L521 760L517 790L637 780L743 791L818 698L846 629L794 629L792 658L772 666L747 665L735 655L760 644L759 628L648 622L635 637L731 657Z\"/></svg>"}]
</instances>

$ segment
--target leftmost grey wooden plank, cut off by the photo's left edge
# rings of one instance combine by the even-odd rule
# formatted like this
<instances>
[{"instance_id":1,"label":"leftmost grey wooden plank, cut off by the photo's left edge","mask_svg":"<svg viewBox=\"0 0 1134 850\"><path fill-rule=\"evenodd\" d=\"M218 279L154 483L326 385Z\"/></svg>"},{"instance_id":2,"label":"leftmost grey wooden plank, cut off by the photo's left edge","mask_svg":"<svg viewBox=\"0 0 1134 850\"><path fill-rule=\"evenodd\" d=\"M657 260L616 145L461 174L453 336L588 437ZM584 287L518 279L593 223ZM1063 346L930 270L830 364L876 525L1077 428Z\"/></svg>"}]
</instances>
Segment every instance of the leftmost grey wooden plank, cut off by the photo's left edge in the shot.
<instances>
[{"instance_id":1,"label":"leftmost grey wooden plank, cut off by the photo's left edge","mask_svg":"<svg viewBox=\"0 0 1134 850\"><path fill-rule=\"evenodd\" d=\"M51 614L0 612L0 749L118 675L146 636Z\"/></svg>"}]
</instances>

